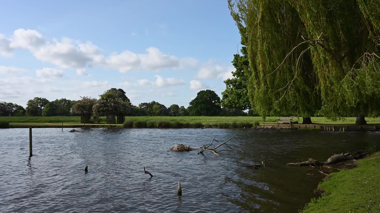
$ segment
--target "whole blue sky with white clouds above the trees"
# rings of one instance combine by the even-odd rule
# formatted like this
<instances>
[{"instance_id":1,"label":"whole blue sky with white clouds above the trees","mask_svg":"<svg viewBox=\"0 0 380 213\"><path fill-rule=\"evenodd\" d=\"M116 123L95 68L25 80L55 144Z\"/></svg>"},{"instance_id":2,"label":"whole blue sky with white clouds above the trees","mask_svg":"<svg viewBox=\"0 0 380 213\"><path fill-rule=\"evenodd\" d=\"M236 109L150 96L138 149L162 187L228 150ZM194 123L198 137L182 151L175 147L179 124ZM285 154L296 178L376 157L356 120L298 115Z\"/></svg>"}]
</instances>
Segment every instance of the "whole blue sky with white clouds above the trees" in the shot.
<instances>
[{"instance_id":1,"label":"whole blue sky with white clouds above the trees","mask_svg":"<svg viewBox=\"0 0 380 213\"><path fill-rule=\"evenodd\" d=\"M240 41L222 0L8 1L0 26L0 101L23 106L109 88L133 105L222 97Z\"/></svg>"}]
</instances>

